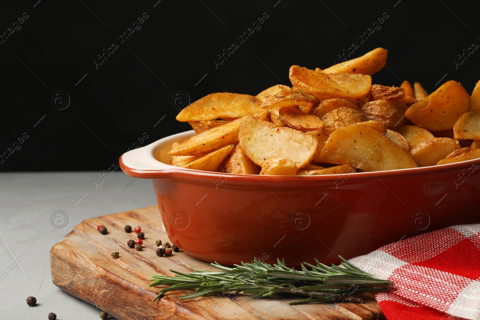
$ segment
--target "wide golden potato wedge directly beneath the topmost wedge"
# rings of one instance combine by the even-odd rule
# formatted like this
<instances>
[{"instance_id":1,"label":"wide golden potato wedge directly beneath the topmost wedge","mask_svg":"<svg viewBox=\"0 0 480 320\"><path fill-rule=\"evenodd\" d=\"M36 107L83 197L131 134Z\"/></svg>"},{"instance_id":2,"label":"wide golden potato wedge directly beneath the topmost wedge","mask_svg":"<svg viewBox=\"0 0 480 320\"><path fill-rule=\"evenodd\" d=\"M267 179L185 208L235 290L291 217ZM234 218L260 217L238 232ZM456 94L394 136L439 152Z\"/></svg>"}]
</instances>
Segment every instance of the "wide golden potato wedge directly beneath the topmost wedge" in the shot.
<instances>
[{"instance_id":1,"label":"wide golden potato wedge directly beneath the topmost wedge","mask_svg":"<svg viewBox=\"0 0 480 320\"><path fill-rule=\"evenodd\" d=\"M312 92L320 100L341 98L353 104L363 101L372 88L372 77L363 74L324 73L291 66L289 78L295 88Z\"/></svg>"}]
</instances>

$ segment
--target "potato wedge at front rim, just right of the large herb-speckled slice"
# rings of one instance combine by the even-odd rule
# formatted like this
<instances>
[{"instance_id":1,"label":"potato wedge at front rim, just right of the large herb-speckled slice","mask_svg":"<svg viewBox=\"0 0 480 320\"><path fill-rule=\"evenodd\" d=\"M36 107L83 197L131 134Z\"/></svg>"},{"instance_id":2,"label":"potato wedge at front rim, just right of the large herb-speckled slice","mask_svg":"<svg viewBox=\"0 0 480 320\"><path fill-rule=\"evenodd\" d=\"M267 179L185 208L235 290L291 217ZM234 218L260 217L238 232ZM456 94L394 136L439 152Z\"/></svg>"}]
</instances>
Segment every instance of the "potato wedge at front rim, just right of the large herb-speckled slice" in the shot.
<instances>
[{"instance_id":1,"label":"potato wedge at front rim, just right of the large herb-speckled slice","mask_svg":"<svg viewBox=\"0 0 480 320\"><path fill-rule=\"evenodd\" d=\"M460 149L460 143L455 139L432 138L418 143L410 154L419 166L435 166L457 149Z\"/></svg>"}]
</instances>

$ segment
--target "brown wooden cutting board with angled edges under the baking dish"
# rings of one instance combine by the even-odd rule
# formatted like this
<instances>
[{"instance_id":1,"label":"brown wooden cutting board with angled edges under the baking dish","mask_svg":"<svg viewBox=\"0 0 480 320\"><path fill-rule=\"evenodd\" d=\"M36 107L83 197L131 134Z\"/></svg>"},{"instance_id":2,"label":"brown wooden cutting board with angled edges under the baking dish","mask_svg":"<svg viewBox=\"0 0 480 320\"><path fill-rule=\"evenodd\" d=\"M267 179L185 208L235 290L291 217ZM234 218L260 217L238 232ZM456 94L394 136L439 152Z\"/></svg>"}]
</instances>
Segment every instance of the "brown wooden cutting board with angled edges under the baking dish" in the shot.
<instances>
[{"instance_id":1,"label":"brown wooden cutting board with angled edges under the baking dish","mask_svg":"<svg viewBox=\"0 0 480 320\"><path fill-rule=\"evenodd\" d=\"M105 225L108 234L96 226ZM136 233L126 233L125 225L142 227L143 251L127 247ZM366 320L384 319L372 295L366 303L288 305L288 299L252 299L249 295L207 296L179 300L185 291L174 291L156 302L158 288L150 288L153 274L173 275L169 270L188 272L189 268L217 270L208 262L182 252L157 257L155 241L169 241L157 206L104 215L82 221L50 251L52 281L69 294L79 297L120 320ZM110 254L119 252L113 259ZM100 313L100 312L99 312Z\"/></svg>"}]
</instances>

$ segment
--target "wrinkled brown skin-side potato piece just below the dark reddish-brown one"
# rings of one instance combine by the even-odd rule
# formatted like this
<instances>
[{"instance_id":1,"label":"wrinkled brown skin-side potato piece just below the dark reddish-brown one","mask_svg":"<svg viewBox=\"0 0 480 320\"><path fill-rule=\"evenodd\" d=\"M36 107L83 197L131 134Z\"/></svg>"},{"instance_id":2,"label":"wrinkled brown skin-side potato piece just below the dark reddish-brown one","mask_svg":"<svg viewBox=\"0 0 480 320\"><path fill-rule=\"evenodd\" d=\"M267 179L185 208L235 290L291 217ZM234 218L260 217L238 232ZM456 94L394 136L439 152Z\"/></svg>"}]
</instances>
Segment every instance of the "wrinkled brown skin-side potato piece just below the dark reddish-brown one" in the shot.
<instances>
[{"instance_id":1,"label":"wrinkled brown skin-side potato piece just below the dark reddish-brown one","mask_svg":"<svg viewBox=\"0 0 480 320\"><path fill-rule=\"evenodd\" d=\"M368 119L382 121L387 127L402 124L408 104L398 100L375 100L359 105Z\"/></svg>"}]
</instances>

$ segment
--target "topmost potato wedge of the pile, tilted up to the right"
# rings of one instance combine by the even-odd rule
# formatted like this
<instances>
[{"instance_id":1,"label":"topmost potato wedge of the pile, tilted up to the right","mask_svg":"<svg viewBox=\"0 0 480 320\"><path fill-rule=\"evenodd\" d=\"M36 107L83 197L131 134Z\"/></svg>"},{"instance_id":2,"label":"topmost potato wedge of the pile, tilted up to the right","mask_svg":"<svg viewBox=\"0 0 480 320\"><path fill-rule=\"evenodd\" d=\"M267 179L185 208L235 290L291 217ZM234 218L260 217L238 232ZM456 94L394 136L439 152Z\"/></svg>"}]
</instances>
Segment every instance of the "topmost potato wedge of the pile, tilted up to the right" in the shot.
<instances>
[{"instance_id":1,"label":"topmost potato wedge of the pile, tilted up to the right","mask_svg":"<svg viewBox=\"0 0 480 320\"><path fill-rule=\"evenodd\" d=\"M324 69L322 72L346 72L372 75L384 67L387 62L387 52L384 48L376 48L361 57L337 63Z\"/></svg>"}]
</instances>

